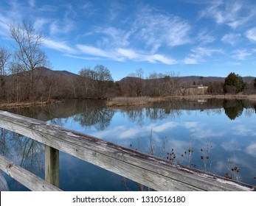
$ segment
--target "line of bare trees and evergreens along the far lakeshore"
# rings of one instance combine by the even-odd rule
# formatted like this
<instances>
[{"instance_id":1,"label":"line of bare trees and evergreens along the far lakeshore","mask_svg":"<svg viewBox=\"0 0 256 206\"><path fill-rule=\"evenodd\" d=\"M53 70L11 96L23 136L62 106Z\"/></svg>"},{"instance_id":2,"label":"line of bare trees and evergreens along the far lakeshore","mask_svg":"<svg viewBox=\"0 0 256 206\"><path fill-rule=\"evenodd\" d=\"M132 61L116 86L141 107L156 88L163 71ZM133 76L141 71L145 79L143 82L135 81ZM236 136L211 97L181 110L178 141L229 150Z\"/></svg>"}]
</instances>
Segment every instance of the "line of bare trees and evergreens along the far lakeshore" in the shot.
<instances>
[{"instance_id":1,"label":"line of bare trees and evergreens along the far lakeshore","mask_svg":"<svg viewBox=\"0 0 256 206\"><path fill-rule=\"evenodd\" d=\"M10 49L0 47L0 99L1 102L33 102L50 99L106 99L115 96L173 96L190 95L191 88L204 85L204 94L256 93L256 78L244 82L230 73L221 81L182 81L173 71L165 74L153 71L144 76L142 68L122 81L114 82L111 72L104 65L82 68L79 74L49 73L49 60L41 49L44 35L35 30L31 22L10 24ZM64 75L65 74L65 75ZM205 93L206 92L206 93ZM194 93L193 93L194 94ZM196 93L197 94L197 93ZM203 93L199 93L203 94Z\"/></svg>"}]
</instances>

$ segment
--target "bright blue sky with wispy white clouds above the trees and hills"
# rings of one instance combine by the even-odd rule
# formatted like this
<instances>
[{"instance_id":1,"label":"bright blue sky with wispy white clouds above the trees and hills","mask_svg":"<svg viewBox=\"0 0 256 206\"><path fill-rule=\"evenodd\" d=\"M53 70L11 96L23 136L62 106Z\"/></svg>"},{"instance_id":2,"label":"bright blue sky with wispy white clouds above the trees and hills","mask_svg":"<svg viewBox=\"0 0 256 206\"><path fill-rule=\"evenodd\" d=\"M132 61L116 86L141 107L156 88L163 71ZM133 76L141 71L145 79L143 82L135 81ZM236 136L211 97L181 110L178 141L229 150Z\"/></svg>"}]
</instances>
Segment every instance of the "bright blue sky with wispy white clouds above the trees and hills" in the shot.
<instances>
[{"instance_id":1,"label":"bright blue sky with wispy white clouds above the trees and hills","mask_svg":"<svg viewBox=\"0 0 256 206\"><path fill-rule=\"evenodd\" d=\"M142 68L179 76L256 77L256 1L3 0L0 46L8 24L34 21L54 70L105 65L114 80Z\"/></svg>"}]
</instances>

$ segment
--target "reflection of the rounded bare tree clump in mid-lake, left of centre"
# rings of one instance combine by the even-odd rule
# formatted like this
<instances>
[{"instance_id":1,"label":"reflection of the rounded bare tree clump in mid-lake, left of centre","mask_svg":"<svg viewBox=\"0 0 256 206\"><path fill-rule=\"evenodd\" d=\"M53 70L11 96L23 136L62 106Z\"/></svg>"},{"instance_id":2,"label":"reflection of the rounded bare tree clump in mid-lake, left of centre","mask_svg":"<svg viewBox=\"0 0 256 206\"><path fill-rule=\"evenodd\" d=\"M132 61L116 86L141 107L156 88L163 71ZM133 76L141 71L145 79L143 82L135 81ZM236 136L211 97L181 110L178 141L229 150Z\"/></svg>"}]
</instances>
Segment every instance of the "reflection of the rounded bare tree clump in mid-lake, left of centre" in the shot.
<instances>
[{"instance_id":1,"label":"reflection of the rounded bare tree clump in mid-lake, left of centre","mask_svg":"<svg viewBox=\"0 0 256 206\"><path fill-rule=\"evenodd\" d=\"M83 127L94 126L98 130L106 129L111 123L111 119L114 116L114 111L106 107L99 105L97 107L88 107L89 105L84 105L83 112L77 114L74 117L75 121Z\"/></svg>"}]
</instances>

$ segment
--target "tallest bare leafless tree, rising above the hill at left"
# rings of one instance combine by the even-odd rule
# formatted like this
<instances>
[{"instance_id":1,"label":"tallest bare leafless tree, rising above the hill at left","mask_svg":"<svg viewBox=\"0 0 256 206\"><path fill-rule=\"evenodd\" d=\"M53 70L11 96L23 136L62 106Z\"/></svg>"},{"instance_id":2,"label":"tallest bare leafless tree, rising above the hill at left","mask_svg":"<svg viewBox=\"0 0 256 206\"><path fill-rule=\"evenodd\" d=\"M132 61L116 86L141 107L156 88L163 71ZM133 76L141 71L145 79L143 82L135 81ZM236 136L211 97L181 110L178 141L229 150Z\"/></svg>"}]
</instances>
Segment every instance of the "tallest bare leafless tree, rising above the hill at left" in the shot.
<instances>
[{"instance_id":1,"label":"tallest bare leafless tree, rising above the hill at left","mask_svg":"<svg viewBox=\"0 0 256 206\"><path fill-rule=\"evenodd\" d=\"M41 50L44 35L35 31L33 23L23 21L22 24L10 24L10 37L15 40L14 54L16 64L30 73L30 99L35 93L34 71L35 68L46 66L46 54Z\"/></svg>"}]
</instances>

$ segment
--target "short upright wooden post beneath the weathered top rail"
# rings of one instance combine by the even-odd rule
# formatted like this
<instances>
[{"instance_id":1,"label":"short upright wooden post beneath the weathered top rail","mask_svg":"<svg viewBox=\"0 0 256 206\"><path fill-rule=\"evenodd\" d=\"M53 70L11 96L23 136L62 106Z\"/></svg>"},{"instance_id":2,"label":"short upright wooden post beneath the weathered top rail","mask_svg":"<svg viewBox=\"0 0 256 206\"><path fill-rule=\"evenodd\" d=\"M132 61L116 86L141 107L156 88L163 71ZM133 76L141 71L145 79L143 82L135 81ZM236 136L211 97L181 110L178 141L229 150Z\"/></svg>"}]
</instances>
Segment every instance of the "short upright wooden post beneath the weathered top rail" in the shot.
<instances>
[{"instance_id":1,"label":"short upright wooden post beneath the weathered top rail","mask_svg":"<svg viewBox=\"0 0 256 206\"><path fill-rule=\"evenodd\" d=\"M45 146L45 180L56 187L59 180L59 151L51 146Z\"/></svg>"}]
</instances>

